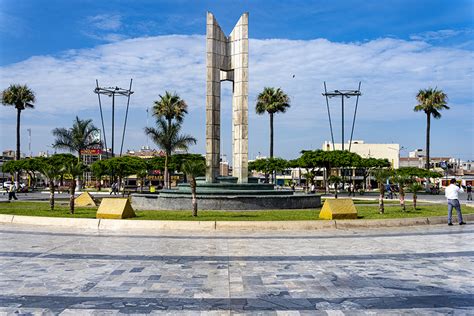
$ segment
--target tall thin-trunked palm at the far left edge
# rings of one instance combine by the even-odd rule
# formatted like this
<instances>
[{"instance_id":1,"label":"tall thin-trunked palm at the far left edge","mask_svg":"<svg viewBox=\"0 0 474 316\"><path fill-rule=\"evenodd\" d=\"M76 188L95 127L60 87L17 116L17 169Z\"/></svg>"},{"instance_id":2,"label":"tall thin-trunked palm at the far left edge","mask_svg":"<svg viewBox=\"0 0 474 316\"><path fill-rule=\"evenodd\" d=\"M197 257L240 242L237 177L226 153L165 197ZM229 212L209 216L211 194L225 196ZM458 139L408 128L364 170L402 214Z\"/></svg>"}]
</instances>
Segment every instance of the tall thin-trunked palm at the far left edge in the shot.
<instances>
[{"instance_id":1,"label":"tall thin-trunked palm at the far left edge","mask_svg":"<svg viewBox=\"0 0 474 316\"><path fill-rule=\"evenodd\" d=\"M2 91L3 105L12 105L16 109L16 160L20 160L20 116L21 111L33 109L34 92L27 85L11 84Z\"/></svg>"}]
</instances>

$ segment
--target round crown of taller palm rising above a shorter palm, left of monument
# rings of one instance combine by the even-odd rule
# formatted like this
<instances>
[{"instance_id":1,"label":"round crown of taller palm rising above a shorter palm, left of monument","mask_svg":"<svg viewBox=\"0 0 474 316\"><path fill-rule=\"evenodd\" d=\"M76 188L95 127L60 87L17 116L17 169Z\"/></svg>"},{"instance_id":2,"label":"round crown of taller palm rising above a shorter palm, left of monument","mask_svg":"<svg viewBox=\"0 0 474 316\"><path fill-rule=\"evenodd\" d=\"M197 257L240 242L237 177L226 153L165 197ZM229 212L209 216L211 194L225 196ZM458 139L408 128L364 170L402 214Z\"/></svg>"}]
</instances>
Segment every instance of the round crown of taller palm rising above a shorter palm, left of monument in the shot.
<instances>
[{"instance_id":1,"label":"round crown of taller palm rising above a shorter palm, left of monument","mask_svg":"<svg viewBox=\"0 0 474 316\"><path fill-rule=\"evenodd\" d=\"M183 122L184 114L188 113L188 105L176 93L166 91L165 95L160 95L160 100L153 105L153 115L164 117L171 126L173 120Z\"/></svg>"}]
</instances>

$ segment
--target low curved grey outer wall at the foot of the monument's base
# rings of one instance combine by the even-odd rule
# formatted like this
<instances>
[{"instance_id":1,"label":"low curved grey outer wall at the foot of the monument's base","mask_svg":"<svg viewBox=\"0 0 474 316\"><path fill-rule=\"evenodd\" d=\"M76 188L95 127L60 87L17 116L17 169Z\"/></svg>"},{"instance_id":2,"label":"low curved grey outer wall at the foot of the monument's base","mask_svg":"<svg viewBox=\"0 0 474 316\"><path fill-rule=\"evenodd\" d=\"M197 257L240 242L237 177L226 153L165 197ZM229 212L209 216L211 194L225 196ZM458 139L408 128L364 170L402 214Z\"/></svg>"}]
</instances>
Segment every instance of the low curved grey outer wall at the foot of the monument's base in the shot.
<instances>
[{"instance_id":1,"label":"low curved grey outer wall at the foot of the monument's base","mask_svg":"<svg viewBox=\"0 0 474 316\"><path fill-rule=\"evenodd\" d=\"M190 210L191 197L183 195L132 194L135 210ZM316 194L286 196L198 196L201 210L275 210L321 207Z\"/></svg>"}]
</instances>

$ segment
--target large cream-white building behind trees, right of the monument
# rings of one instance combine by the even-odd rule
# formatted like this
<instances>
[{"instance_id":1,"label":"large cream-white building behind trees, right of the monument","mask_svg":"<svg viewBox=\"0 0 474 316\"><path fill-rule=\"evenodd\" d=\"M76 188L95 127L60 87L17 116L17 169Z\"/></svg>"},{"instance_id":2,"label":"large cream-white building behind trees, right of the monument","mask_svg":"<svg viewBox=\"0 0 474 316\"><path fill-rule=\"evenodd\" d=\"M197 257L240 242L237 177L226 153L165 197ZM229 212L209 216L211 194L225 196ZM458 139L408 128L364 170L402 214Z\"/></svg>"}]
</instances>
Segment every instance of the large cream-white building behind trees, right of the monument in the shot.
<instances>
[{"instance_id":1,"label":"large cream-white building behind trees, right of the monument","mask_svg":"<svg viewBox=\"0 0 474 316\"><path fill-rule=\"evenodd\" d=\"M352 144L344 144L344 149L358 154L362 158L388 159L392 167L398 169L400 166L400 144L368 144L363 140L353 140ZM325 141L323 150L333 150L331 142ZM335 150L341 150L341 143L334 144Z\"/></svg>"}]
</instances>

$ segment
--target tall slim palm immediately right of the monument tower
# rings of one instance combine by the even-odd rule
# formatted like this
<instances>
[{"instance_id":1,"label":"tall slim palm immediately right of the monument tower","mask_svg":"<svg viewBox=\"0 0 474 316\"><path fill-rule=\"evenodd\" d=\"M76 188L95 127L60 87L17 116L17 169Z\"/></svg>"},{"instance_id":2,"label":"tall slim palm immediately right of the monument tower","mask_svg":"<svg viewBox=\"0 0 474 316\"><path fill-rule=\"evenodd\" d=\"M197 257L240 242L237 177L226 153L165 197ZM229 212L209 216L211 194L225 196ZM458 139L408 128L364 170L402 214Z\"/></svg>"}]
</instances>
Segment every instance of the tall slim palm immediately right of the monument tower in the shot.
<instances>
[{"instance_id":1,"label":"tall slim palm immediately right of the monument tower","mask_svg":"<svg viewBox=\"0 0 474 316\"><path fill-rule=\"evenodd\" d=\"M270 114L270 158L273 158L273 116L285 113L289 107L290 98L280 88L265 87L257 97L257 114Z\"/></svg>"}]
</instances>

